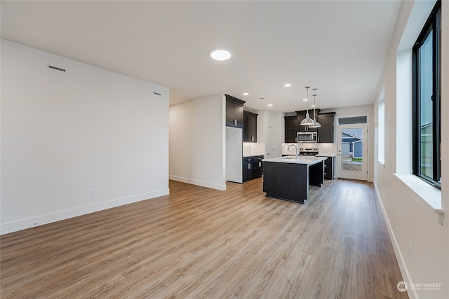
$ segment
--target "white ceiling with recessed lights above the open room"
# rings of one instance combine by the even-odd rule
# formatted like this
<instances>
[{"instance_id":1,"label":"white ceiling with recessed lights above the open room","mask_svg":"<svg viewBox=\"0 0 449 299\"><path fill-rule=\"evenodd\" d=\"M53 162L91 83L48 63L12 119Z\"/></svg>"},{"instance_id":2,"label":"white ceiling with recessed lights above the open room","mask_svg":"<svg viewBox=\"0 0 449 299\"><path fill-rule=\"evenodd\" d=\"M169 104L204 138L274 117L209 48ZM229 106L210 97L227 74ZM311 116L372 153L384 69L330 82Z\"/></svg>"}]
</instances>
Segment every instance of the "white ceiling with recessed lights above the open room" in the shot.
<instances>
[{"instance_id":1,"label":"white ceiling with recessed lights above the open room","mask_svg":"<svg viewBox=\"0 0 449 299\"><path fill-rule=\"evenodd\" d=\"M1 38L166 86L170 104L227 93L253 109L290 112L305 109L310 85L319 88L317 107L331 109L375 101L400 7L396 0L1 1ZM213 61L213 48L233 56Z\"/></svg>"}]
</instances>

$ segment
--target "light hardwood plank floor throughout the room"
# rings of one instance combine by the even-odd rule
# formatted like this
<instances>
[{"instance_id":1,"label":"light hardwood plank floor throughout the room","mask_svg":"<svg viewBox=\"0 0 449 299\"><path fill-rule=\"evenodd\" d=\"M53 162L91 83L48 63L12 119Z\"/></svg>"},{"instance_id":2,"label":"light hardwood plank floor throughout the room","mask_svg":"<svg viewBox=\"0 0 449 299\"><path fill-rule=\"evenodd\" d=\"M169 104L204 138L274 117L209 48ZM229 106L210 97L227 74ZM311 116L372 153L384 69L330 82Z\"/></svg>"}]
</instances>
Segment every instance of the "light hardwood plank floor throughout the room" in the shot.
<instances>
[{"instance_id":1,"label":"light hardwood plank floor throughout the room","mask_svg":"<svg viewBox=\"0 0 449 299\"><path fill-rule=\"evenodd\" d=\"M326 181L307 204L262 179L1 237L1 298L407 298L373 186Z\"/></svg>"}]
</instances>

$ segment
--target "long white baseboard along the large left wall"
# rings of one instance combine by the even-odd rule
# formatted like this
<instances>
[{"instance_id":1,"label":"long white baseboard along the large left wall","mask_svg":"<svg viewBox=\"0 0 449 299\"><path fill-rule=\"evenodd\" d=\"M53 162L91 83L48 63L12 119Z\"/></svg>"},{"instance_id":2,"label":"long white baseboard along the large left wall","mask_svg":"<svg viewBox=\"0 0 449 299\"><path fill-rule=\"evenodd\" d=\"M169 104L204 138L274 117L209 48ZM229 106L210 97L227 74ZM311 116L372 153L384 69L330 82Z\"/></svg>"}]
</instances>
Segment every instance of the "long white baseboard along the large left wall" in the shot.
<instances>
[{"instance_id":1,"label":"long white baseboard along the large left wall","mask_svg":"<svg viewBox=\"0 0 449 299\"><path fill-rule=\"evenodd\" d=\"M74 209L67 209L64 211L57 211L51 214L39 215L32 218L20 219L18 221L11 221L8 223L2 223L0 225L0 235L5 235L10 232L17 232L18 230L25 230L27 228L34 228L35 226L48 224L56 221L73 218L76 216L91 214L95 211L102 211L105 209L111 209L114 207L123 206L125 204L131 204L133 202L140 202L142 200L148 200L150 198L168 195L169 190L162 189L149 193L142 193L131 195L128 197L116 198L114 200L108 200L107 202L99 202L98 204L91 204L83 207L76 207Z\"/></svg>"}]
</instances>

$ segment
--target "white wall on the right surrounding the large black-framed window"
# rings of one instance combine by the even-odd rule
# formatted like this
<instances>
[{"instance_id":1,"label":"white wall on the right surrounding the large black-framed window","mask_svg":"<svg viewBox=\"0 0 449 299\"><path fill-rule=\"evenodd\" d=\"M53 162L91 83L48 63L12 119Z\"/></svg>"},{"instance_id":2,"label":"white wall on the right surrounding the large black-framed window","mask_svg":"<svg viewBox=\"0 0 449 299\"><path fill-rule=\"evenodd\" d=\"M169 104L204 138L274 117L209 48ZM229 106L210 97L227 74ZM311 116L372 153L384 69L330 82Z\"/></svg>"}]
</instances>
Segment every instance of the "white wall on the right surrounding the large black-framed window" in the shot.
<instances>
[{"instance_id":1,"label":"white wall on the right surrounding the large black-framed window","mask_svg":"<svg viewBox=\"0 0 449 299\"><path fill-rule=\"evenodd\" d=\"M384 67L385 160L375 162L375 188L380 197L403 279L410 285L441 283L441 289L408 288L410 298L449 298L449 1L442 1L441 219L417 193L411 174L411 47L434 1L404 1ZM398 48L399 47L399 48ZM377 101L373 105L377 109ZM377 113L375 113L377 118ZM377 125L377 120L374 122ZM377 138L375 148L377 148ZM375 156L377 158L377 155ZM404 183L396 175L410 176ZM418 180L419 179L415 179ZM423 189L435 191L423 183ZM410 249L411 246L411 249Z\"/></svg>"}]
</instances>

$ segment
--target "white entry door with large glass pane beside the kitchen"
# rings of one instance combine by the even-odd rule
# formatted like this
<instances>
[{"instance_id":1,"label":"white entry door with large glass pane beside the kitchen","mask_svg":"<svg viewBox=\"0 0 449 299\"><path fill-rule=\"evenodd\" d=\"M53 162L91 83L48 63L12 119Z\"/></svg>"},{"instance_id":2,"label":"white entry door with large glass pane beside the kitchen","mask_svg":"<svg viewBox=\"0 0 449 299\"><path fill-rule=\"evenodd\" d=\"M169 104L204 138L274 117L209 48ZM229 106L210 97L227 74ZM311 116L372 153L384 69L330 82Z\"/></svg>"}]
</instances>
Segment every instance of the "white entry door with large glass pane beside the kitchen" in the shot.
<instances>
[{"instance_id":1,"label":"white entry door with large glass pane beside the kitchen","mask_svg":"<svg viewBox=\"0 0 449 299\"><path fill-rule=\"evenodd\" d=\"M338 177L368 181L367 125L338 126Z\"/></svg>"}]
</instances>

